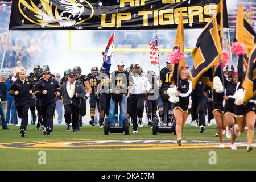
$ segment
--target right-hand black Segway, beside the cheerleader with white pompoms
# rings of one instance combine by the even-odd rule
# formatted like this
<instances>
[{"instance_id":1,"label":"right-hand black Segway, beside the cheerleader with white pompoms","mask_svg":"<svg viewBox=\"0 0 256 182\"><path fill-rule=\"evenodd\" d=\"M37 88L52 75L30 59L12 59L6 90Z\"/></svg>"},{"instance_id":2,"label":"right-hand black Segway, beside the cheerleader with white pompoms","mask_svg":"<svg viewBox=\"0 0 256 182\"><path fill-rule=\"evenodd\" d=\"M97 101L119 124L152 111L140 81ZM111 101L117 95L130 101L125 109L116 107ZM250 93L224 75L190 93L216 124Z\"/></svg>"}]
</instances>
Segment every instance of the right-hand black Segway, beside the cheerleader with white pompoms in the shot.
<instances>
[{"instance_id":1,"label":"right-hand black Segway, beside the cheerleader with white pompoms","mask_svg":"<svg viewBox=\"0 0 256 182\"><path fill-rule=\"evenodd\" d=\"M171 122L171 126L168 126L167 119L168 119L168 101L164 102L164 120L163 125L158 126L158 117L153 118L153 135L157 135L158 133L174 133L176 135L176 119L172 114L172 117L169 118L169 122Z\"/></svg>"}]
</instances>

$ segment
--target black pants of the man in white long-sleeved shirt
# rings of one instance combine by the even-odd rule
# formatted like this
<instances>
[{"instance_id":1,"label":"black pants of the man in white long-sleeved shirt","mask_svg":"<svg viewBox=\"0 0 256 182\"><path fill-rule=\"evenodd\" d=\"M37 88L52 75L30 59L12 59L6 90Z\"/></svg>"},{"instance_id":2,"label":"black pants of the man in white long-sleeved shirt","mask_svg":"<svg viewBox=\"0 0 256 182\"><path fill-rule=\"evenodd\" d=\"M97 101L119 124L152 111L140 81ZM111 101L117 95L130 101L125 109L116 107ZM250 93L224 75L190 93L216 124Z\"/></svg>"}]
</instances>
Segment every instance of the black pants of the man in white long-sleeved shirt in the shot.
<instances>
[{"instance_id":1,"label":"black pants of the man in white long-sleeved shirt","mask_svg":"<svg viewBox=\"0 0 256 182\"><path fill-rule=\"evenodd\" d=\"M133 130L137 130L137 117L142 118L144 110L145 97L143 94L131 95L130 97L130 109L131 119L133 120Z\"/></svg>"}]
</instances>

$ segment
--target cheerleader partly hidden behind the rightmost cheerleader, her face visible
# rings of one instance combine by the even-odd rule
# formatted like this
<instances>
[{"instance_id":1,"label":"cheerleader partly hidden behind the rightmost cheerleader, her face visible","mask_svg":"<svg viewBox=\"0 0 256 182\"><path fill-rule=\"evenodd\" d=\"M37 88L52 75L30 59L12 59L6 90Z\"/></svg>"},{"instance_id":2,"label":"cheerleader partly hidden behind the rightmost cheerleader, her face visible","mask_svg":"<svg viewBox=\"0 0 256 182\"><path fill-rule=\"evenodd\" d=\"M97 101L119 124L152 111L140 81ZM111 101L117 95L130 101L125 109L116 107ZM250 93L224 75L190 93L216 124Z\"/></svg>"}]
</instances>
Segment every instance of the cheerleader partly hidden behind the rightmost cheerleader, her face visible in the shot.
<instances>
[{"instance_id":1,"label":"cheerleader partly hidden behind the rightmost cheerleader, her face visible","mask_svg":"<svg viewBox=\"0 0 256 182\"><path fill-rule=\"evenodd\" d=\"M225 96L223 96L225 100L225 105L224 105L224 121L228 125L226 126L226 137L231 138L232 130L231 127L234 126L235 124L235 119L234 119L234 94L236 92L237 88L237 83L238 83L238 72L233 72L232 76L230 78L230 81L224 80L225 84ZM236 150L236 146L234 145L234 142L230 144L230 148L232 150Z\"/></svg>"}]
</instances>

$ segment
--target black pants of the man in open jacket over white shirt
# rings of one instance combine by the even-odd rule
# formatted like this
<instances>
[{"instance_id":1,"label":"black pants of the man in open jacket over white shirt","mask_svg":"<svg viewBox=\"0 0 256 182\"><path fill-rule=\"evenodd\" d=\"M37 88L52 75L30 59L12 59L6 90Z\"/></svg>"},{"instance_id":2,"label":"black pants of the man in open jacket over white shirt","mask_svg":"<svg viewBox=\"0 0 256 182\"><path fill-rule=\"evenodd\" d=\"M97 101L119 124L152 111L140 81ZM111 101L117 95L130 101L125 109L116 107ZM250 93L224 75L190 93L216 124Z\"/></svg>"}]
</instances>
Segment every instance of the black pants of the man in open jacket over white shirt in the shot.
<instances>
[{"instance_id":1,"label":"black pants of the man in open jacket over white shirt","mask_svg":"<svg viewBox=\"0 0 256 182\"><path fill-rule=\"evenodd\" d=\"M78 125L78 119L79 119L79 107L73 105L73 104L67 104L64 106L65 109L65 121L67 121L67 124L71 123L71 114L72 114L72 127L74 129L77 128Z\"/></svg>"}]
</instances>

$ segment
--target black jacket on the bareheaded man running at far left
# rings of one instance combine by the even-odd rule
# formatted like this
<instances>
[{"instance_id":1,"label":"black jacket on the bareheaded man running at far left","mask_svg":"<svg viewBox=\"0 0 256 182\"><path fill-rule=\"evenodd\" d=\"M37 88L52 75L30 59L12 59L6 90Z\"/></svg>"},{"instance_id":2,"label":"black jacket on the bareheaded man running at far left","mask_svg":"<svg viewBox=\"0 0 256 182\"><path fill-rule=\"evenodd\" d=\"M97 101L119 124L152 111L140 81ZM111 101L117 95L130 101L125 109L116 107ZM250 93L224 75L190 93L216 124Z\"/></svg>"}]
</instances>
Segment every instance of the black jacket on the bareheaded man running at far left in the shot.
<instances>
[{"instance_id":1,"label":"black jacket on the bareheaded man running at far left","mask_svg":"<svg viewBox=\"0 0 256 182\"><path fill-rule=\"evenodd\" d=\"M32 92L35 90L34 81L26 77L23 84L20 78L18 78L11 84L8 93L11 96L14 96L14 102L16 106L22 106L24 104L30 104L32 100L32 95L29 93L30 90L32 90ZM16 96L14 94L15 91L19 91L19 94Z\"/></svg>"}]
</instances>

